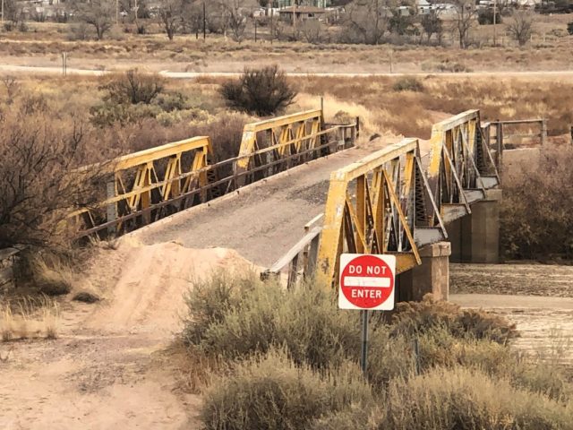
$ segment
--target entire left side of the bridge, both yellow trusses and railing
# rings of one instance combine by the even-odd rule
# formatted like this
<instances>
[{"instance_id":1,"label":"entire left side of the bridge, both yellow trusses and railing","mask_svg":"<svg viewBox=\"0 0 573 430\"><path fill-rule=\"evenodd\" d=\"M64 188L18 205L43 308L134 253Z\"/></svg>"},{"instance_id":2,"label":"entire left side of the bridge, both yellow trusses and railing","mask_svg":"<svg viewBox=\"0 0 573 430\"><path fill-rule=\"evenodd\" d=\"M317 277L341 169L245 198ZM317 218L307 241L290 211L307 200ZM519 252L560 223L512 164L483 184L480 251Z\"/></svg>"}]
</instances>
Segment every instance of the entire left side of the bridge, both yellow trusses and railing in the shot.
<instances>
[{"instance_id":1,"label":"entire left side of the bridge, both yellow trusses and railing","mask_svg":"<svg viewBox=\"0 0 573 430\"><path fill-rule=\"evenodd\" d=\"M80 237L118 235L349 148L358 130L358 121L325 126L321 110L308 111L245 125L239 155L216 163L207 136L126 155L107 163L109 180L99 202L73 212L70 219L78 224Z\"/></svg>"}]
</instances>

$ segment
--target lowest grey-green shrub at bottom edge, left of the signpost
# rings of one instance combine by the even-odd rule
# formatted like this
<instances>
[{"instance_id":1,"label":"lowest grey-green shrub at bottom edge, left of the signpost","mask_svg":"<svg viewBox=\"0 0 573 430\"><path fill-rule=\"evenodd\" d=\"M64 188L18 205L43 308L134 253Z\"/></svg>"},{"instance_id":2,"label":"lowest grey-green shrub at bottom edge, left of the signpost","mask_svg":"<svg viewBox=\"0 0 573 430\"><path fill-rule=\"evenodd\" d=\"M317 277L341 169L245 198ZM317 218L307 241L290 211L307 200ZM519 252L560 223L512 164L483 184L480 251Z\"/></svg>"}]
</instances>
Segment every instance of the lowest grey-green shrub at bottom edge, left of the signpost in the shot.
<instances>
[{"instance_id":1,"label":"lowest grey-green shrub at bottom edge, left of the signpost","mask_svg":"<svg viewBox=\"0 0 573 430\"><path fill-rule=\"evenodd\" d=\"M201 419L206 430L300 430L327 413L370 403L372 391L355 366L319 375L270 350L218 379L205 395Z\"/></svg>"}]
</instances>

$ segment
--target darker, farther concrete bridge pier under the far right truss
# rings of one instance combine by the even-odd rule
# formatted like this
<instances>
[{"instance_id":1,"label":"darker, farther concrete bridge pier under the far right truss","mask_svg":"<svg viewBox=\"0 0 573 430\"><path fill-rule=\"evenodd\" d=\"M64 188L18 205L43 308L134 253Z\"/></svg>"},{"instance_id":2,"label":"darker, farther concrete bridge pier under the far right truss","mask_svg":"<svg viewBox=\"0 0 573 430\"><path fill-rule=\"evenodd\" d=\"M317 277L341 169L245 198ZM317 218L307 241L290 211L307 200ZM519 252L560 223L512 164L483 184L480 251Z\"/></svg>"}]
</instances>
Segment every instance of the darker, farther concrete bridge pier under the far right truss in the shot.
<instances>
[{"instance_id":1,"label":"darker, farther concrete bridge pier under the far right truss","mask_svg":"<svg viewBox=\"0 0 573 430\"><path fill-rule=\"evenodd\" d=\"M485 191L485 199L472 203L472 213L446 225L451 243L450 262L500 261L501 190Z\"/></svg>"}]
</instances>

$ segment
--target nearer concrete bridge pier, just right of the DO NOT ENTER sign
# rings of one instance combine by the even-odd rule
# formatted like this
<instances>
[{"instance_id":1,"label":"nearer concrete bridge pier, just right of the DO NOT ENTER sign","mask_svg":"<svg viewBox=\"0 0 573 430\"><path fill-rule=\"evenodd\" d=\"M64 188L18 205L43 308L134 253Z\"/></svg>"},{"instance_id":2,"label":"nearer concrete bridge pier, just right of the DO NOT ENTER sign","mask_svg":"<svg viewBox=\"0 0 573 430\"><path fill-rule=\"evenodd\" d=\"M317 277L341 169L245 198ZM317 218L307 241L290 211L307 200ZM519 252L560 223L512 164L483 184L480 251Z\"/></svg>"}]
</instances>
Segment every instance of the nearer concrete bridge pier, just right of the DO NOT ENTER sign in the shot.
<instances>
[{"instance_id":1,"label":"nearer concrete bridge pier, just right of the DO NOT ENTER sign","mask_svg":"<svg viewBox=\"0 0 573 430\"><path fill-rule=\"evenodd\" d=\"M427 293L448 300L449 242L426 245L419 252L422 264L398 275L396 301L420 301Z\"/></svg>"}]
</instances>

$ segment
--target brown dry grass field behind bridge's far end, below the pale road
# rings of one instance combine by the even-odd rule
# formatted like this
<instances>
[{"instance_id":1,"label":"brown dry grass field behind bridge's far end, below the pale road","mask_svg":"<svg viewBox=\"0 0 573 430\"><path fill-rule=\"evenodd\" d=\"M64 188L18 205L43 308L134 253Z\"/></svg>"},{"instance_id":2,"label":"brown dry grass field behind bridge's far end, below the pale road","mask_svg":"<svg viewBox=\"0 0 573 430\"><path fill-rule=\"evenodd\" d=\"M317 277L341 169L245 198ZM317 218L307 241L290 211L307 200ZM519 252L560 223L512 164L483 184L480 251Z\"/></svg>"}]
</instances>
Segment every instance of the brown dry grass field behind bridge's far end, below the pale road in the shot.
<instances>
[{"instance_id":1,"label":"brown dry grass field behind bridge's far end, below the pale road","mask_svg":"<svg viewBox=\"0 0 573 430\"><path fill-rule=\"evenodd\" d=\"M326 95L335 105L359 107L369 129L379 133L427 139L434 123L476 108L483 120L548 118L550 135L567 133L573 124L573 114L564 108L573 103L570 78L427 75L421 80L422 91L396 92L393 86L398 79L308 77L296 83L302 93L299 99Z\"/></svg>"}]
</instances>

